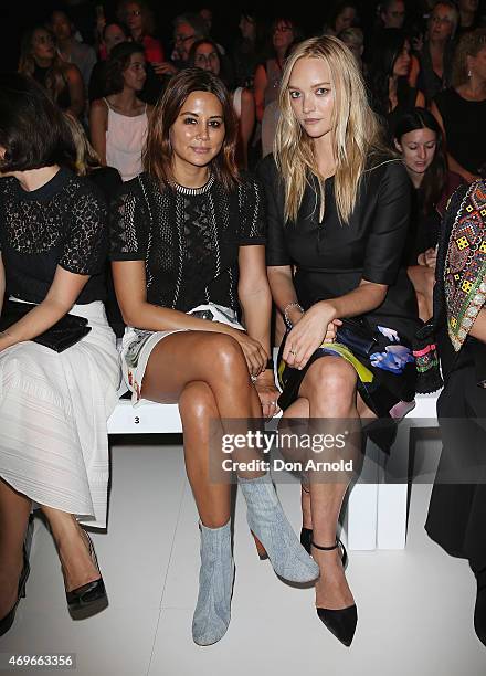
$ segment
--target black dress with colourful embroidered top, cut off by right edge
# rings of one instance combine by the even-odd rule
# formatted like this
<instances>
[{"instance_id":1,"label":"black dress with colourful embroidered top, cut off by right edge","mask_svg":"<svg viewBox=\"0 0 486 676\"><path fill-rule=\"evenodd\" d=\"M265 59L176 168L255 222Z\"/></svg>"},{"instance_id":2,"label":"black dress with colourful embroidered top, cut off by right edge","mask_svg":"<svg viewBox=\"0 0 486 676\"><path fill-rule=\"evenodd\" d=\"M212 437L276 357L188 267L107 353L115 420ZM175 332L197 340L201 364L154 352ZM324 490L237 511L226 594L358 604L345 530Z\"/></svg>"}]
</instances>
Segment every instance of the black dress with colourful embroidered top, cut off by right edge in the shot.
<instances>
[{"instance_id":1,"label":"black dress with colourful embroidered top, cut off by right edge","mask_svg":"<svg viewBox=\"0 0 486 676\"><path fill-rule=\"evenodd\" d=\"M447 330L444 291L445 277L462 272L457 251L463 247L464 232L454 232L453 226L468 190L467 186L461 187L451 199L437 253L434 324L444 377L444 389L437 401L443 448L425 529L447 553L468 559L473 571L478 573L486 569L486 344L467 336L461 349L454 349ZM483 197L475 218L483 241L486 241L486 219L479 214L485 208ZM467 253L469 250L463 247ZM464 261L471 268L471 258ZM476 292L484 303L486 281ZM474 300L480 303L478 294ZM469 307L465 315L473 313L475 309Z\"/></svg>"}]
</instances>

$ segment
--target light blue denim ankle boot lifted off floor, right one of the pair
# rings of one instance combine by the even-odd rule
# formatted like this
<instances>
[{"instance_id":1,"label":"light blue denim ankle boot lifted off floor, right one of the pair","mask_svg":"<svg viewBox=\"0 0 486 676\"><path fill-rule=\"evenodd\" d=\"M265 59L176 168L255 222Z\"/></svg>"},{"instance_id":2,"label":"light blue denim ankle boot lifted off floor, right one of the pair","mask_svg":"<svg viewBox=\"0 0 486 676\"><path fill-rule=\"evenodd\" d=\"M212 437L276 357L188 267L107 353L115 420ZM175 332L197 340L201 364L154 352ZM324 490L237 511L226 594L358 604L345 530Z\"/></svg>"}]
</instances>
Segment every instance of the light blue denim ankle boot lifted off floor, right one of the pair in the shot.
<instances>
[{"instance_id":1,"label":"light blue denim ankle boot lifted off floor, right one of the pair","mask_svg":"<svg viewBox=\"0 0 486 676\"><path fill-rule=\"evenodd\" d=\"M268 475L237 480L246 500L250 529L266 549L277 575L289 582L316 580L319 567L298 541Z\"/></svg>"}]
</instances>

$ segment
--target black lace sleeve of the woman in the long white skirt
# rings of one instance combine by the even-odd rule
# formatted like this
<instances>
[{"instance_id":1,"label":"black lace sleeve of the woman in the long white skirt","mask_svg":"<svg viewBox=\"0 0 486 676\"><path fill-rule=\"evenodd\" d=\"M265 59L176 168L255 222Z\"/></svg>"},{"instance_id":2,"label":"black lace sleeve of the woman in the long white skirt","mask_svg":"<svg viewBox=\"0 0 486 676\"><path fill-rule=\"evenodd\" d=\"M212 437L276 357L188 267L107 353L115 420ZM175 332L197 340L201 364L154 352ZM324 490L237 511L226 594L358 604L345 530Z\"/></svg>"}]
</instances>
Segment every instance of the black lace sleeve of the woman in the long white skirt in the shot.
<instances>
[{"instance_id":1,"label":"black lace sleeve of the woman in the long white skirt","mask_svg":"<svg viewBox=\"0 0 486 676\"><path fill-rule=\"evenodd\" d=\"M107 209L98 192L83 186L70 204L70 231L59 265L77 275L95 275L105 264Z\"/></svg>"}]
</instances>

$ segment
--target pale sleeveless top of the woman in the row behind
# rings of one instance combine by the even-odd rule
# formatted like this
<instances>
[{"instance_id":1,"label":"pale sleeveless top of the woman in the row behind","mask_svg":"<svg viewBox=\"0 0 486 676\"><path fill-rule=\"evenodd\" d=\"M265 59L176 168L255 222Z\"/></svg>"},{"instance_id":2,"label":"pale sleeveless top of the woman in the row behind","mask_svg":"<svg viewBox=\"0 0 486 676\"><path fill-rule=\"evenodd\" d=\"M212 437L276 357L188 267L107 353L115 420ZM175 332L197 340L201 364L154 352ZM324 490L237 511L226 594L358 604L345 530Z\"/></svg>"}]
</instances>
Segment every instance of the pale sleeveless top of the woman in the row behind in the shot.
<instances>
[{"instance_id":1,"label":"pale sleeveless top of the woman in the row behind","mask_svg":"<svg viewBox=\"0 0 486 676\"><path fill-rule=\"evenodd\" d=\"M147 138L147 104L141 115L122 115L108 106L106 129L106 163L118 169L122 180L129 181L141 173L141 150Z\"/></svg>"}]
</instances>

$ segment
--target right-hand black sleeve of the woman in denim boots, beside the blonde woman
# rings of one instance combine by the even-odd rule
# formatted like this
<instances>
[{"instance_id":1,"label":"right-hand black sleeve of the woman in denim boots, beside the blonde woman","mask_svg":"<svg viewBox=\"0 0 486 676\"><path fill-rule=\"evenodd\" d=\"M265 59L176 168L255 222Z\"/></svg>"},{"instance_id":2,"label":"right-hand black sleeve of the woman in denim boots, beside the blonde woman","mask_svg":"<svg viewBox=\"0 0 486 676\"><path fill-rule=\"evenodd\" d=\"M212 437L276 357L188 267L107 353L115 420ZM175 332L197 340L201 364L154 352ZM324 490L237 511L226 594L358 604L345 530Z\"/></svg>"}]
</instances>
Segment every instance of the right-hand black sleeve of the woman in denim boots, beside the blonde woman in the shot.
<instances>
[{"instance_id":1,"label":"right-hand black sleeve of the woman in denim boots, beside the blonde woman","mask_svg":"<svg viewBox=\"0 0 486 676\"><path fill-rule=\"evenodd\" d=\"M239 186L239 244L249 246L265 244L266 209L265 193L261 182L251 175Z\"/></svg>"}]
</instances>

